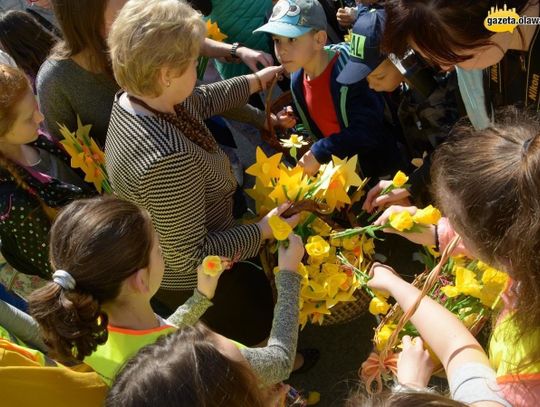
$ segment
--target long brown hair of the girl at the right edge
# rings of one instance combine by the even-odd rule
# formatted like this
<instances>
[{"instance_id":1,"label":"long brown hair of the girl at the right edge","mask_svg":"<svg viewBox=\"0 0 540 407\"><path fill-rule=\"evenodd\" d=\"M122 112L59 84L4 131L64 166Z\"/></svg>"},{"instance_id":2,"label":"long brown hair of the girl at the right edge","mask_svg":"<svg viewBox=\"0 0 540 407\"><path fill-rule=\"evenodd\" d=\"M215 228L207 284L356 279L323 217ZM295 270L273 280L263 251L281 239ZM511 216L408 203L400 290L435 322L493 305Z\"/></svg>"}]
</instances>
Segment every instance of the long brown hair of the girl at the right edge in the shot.
<instances>
[{"instance_id":1,"label":"long brown hair of the girl at the right edge","mask_svg":"<svg viewBox=\"0 0 540 407\"><path fill-rule=\"evenodd\" d=\"M435 153L433 186L469 249L516 282L523 334L540 327L540 117L510 107L496 119L485 130L461 124L450 133Z\"/></svg>"}]
</instances>

